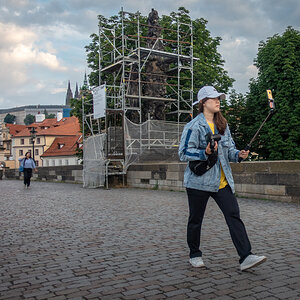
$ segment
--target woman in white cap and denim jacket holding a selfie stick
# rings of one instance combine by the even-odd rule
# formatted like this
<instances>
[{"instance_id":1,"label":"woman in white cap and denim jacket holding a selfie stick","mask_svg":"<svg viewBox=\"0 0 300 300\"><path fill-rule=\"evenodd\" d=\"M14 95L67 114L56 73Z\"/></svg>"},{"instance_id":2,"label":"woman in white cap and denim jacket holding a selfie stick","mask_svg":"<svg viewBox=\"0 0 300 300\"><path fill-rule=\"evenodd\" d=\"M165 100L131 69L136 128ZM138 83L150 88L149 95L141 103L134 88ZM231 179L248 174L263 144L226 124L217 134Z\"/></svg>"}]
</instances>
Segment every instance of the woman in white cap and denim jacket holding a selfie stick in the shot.
<instances>
[{"instance_id":1,"label":"woman in white cap and denim jacket holding a selfie stick","mask_svg":"<svg viewBox=\"0 0 300 300\"><path fill-rule=\"evenodd\" d=\"M219 134L221 139L215 142L214 152L217 161L203 175L196 175L189 164L184 172L189 218L187 225L187 243L190 249L190 263L194 267L204 267L200 250L201 225L209 197L212 197L225 217L231 239L240 257L240 269L246 270L266 261L265 256L253 255L248 235L240 218L239 206L234 196L234 181L229 162L245 159L249 151L237 150L231 137L226 119L220 111L220 100L225 94L212 86L202 87L193 105L199 105L199 114L186 124L181 136L179 158L181 161L206 161L213 155L207 135Z\"/></svg>"}]
</instances>

